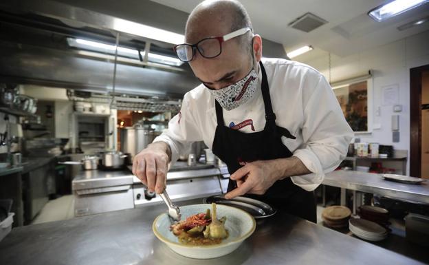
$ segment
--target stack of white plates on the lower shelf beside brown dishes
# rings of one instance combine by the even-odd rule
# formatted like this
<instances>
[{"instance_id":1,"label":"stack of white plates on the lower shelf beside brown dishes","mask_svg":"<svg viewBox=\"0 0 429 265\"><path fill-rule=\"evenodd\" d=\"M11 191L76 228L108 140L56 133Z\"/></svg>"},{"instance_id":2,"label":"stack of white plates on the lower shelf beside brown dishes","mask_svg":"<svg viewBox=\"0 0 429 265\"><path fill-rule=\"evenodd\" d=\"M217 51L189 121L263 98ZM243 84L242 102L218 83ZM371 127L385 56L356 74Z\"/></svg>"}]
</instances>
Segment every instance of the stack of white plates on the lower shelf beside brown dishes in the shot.
<instances>
[{"instance_id":1,"label":"stack of white plates on the lower shelf beside brown dishes","mask_svg":"<svg viewBox=\"0 0 429 265\"><path fill-rule=\"evenodd\" d=\"M383 226L364 219L350 219L349 229L356 236L368 241L384 240L388 235Z\"/></svg>"}]
</instances>

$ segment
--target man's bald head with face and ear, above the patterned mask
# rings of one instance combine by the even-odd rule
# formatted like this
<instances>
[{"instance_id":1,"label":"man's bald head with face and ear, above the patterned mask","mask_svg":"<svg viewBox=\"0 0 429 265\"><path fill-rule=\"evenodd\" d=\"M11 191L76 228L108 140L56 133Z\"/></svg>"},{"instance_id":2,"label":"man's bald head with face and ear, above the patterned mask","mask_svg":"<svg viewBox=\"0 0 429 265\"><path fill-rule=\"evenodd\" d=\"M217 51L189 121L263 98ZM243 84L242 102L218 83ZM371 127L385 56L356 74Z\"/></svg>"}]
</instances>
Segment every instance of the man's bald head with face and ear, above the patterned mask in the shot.
<instances>
[{"instance_id":1,"label":"man's bald head with face and ear, above the patterned mask","mask_svg":"<svg viewBox=\"0 0 429 265\"><path fill-rule=\"evenodd\" d=\"M208 37L251 28L248 12L239 1L206 0L189 15L186 22L185 41L195 44ZM252 30L253 31L253 30ZM204 44L202 44L204 45ZM262 56L262 39L248 31L221 43L221 52L212 58L201 56L204 46L193 50L189 61L195 76L201 83L212 89L232 85L258 67Z\"/></svg>"}]
</instances>

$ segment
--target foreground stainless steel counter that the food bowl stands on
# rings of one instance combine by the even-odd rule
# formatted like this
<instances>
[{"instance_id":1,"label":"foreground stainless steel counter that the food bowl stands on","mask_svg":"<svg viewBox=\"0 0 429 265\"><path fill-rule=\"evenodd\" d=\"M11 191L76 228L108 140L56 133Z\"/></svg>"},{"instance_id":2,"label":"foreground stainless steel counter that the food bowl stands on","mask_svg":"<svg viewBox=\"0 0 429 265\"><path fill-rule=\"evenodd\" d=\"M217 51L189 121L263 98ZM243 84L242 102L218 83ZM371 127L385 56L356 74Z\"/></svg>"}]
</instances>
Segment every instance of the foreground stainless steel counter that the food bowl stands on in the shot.
<instances>
[{"instance_id":1,"label":"foreground stainless steel counter that the food bowl stands on","mask_svg":"<svg viewBox=\"0 0 429 265\"><path fill-rule=\"evenodd\" d=\"M230 255L189 259L153 235L152 222L164 211L164 205L157 205L19 227L0 242L0 264L422 264L280 214L258 223L254 234Z\"/></svg>"}]
</instances>

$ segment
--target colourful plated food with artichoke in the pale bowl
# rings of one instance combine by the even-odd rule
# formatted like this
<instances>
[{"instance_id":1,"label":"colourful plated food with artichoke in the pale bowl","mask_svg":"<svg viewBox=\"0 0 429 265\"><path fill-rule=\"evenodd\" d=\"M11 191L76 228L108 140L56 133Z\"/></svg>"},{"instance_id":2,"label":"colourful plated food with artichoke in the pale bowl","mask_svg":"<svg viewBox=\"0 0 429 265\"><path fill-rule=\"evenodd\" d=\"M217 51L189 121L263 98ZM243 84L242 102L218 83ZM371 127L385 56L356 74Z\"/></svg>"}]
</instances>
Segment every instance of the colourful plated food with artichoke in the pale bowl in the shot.
<instances>
[{"instance_id":1,"label":"colourful plated food with artichoke in the pale bowl","mask_svg":"<svg viewBox=\"0 0 429 265\"><path fill-rule=\"evenodd\" d=\"M170 230L179 238L182 244L205 246L219 244L228 237L225 229L226 217L217 219L216 204L212 203L212 211L190 215L186 220L170 226Z\"/></svg>"}]
</instances>

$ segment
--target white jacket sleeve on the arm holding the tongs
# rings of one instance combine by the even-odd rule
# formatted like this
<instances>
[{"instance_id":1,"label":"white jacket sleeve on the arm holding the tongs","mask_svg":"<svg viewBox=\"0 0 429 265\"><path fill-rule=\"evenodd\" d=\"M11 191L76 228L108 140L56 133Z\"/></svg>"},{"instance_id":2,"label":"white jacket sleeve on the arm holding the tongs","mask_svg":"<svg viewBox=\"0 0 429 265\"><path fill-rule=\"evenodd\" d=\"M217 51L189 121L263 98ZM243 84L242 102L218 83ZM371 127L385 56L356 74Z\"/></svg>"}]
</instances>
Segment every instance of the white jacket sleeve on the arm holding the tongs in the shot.
<instances>
[{"instance_id":1,"label":"white jacket sleeve on the arm holding the tongs","mask_svg":"<svg viewBox=\"0 0 429 265\"><path fill-rule=\"evenodd\" d=\"M179 156L190 151L192 142L202 140L199 123L195 118L197 109L191 104L190 93L186 93L181 104L180 112L174 116L168 123L168 129L165 129L160 136L153 142L166 142L171 149L171 163L177 161Z\"/></svg>"}]
</instances>

